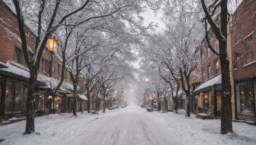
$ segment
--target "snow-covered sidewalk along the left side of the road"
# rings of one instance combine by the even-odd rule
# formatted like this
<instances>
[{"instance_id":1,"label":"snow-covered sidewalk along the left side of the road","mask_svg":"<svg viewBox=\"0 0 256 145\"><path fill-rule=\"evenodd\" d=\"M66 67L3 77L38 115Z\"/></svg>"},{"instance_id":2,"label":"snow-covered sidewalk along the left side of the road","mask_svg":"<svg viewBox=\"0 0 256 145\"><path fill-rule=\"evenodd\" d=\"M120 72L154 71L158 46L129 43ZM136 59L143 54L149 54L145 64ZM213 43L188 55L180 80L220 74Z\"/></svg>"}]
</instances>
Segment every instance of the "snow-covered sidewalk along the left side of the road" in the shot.
<instances>
[{"instance_id":1,"label":"snow-covered sidewalk along the left side of the road","mask_svg":"<svg viewBox=\"0 0 256 145\"><path fill-rule=\"evenodd\" d=\"M106 109L107 113L88 114L87 111L77 113L49 114L35 118L35 131L39 134L22 135L26 127L26 120L10 125L0 126L0 144L61 144L68 139L75 139L79 134L88 134L86 128L97 123L97 120L115 114L115 110Z\"/></svg>"}]
</instances>

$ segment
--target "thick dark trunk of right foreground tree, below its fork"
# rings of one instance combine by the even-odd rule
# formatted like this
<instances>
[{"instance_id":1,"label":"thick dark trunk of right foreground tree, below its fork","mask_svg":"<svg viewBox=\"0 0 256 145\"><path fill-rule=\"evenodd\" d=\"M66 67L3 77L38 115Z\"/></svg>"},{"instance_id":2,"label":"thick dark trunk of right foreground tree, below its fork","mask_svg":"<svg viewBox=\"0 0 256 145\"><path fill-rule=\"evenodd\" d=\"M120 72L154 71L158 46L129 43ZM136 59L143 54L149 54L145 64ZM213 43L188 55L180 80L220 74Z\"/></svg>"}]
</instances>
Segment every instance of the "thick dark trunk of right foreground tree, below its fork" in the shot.
<instances>
[{"instance_id":1,"label":"thick dark trunk of right foreground tree, below its fork","mask_svg":"<svg viewBox=\"0 0 256 145\"><path fill-rule=\"evenodd\" d=\"M221 93L221 134L227 134L228 132L233 132L231 83L229 61L227 59L227 43L222 44L222 47L221 50L225 53L220 53L221 79L223 85L223 93Z\"/></svg>"}]
</instances>

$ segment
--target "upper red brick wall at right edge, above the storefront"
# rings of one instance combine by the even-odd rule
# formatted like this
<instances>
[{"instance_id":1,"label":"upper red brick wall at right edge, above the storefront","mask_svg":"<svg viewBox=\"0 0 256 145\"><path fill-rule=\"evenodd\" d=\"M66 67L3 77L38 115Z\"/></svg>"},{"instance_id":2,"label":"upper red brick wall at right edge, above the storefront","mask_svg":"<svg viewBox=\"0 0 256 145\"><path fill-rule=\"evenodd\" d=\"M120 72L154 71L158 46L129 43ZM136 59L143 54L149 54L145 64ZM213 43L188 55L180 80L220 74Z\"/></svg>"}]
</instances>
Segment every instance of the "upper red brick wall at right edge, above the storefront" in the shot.
<instances>
[{"instance_id":1,"label":"upper red brick wall at right edge, above the storefront","mask_svg":"<svg viewBox=\"0 0 256 145\"><path fill-rule=\"evenodd\" d=\"M232 15L232 56L233 64L237 69L233 70L234 79L246 78L256 74L256 63L243 67L245 63L243 39L251 34L254 48L254 60L256 60L256 1L243 1ZM239 53L235 57L234 53Z\"/></svg>"}]
</instances>

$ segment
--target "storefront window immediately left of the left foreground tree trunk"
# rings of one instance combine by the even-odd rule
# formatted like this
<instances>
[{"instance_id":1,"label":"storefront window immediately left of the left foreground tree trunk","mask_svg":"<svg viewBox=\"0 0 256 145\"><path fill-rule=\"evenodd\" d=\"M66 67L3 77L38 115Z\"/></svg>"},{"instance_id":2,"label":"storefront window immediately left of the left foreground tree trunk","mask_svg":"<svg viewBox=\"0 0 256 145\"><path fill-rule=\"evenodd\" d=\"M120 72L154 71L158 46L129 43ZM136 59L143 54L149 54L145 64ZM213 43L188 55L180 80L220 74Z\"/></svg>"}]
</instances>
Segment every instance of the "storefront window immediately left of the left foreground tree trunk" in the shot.
<instances>
[{"instance_id":1,"label":"storefront window immediately left of the left foreground tree trunk","mask_svg":"<svg viewBox=\"0 0 256 145\"><path fill-rule=\"evenodd\" d=\"M13 112L21 112L22 97L23 97L23 84L15 82L15 96L13 104Z\"/></svg>"}]
</instances>

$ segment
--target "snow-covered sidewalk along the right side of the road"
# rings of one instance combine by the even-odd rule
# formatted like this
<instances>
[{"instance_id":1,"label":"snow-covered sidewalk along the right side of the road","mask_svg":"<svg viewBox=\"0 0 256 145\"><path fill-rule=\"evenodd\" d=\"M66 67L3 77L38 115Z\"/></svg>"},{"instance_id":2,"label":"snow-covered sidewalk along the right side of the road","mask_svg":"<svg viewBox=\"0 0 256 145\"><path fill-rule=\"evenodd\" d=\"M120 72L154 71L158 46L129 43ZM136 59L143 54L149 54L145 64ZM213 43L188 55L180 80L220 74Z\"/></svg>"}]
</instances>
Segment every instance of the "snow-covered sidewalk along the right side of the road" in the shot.
<instances>
[{"instance_id":1,"label":"snow-covered sidewalk along the right side of the road","mask_svg":"<svg viewBox=\"0 0 256 145\"><path fill-rule=\"evenodd\" d=\"M148 115L157 118L170 130L170 135L179 137L184 144L256 144L256 127L246 123L233 122L234 133L220 134L220 120L202 120L185 117L184 114L153 112Z\"/></svg>"}]
</instances>

